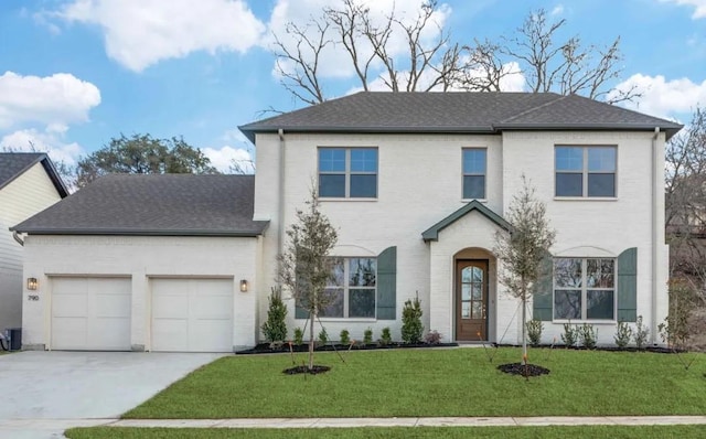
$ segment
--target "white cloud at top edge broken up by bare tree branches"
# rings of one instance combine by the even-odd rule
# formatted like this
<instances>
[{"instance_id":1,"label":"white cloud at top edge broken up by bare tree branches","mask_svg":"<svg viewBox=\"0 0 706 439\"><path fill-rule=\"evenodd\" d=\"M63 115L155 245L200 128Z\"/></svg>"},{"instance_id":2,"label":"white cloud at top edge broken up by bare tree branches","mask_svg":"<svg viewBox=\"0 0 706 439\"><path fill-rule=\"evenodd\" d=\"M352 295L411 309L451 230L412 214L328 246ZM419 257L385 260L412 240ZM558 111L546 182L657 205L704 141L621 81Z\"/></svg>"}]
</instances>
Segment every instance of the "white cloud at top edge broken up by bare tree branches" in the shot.
<instances>
[{"instance_id":1,"label":"white cloud at top edge broken up by bare tree branches","mask_svg":"<svg viewBox=\"0 0 706 439\"><path fill-rule=\"evenodd\" d=\"M357 3L364 4L370 8L370 14L374 24L382 25L386 17L395 11L395 17L406 25L414 23L420 13L420 8L426 0L356 0ZM321 17L323 9L327 7L338 8L342 6L342 0L278 0L277 4L272 9L272 14L268 23L268 29L275 32L280 41L288 47L295 49L295 40L289 36L285 29L288 23L296 23L300 29L304 29L307 23L311 19L318 19ZM435 41L441 29L443 29L448 17L451 13L451 8L441 3L437 11L432 14L432 23L428 23L425 28L425 32L421 35L422 41ZM387 44L387 51L391 56L398 56L405 54L409 49L405 40L405 35L402 29L394 24L395 31L391 35ZM308 36L312 36L315 33L314 28L309 29L311 33ZM334 41L335 35L331 33L330 40ZM269 39L264 42L265 46L271 47L272 40ZM356 42L361 50L361 58L367 58L372 53L372 49L368 43L361 40ZM402 58L400 58L402 60ZM312 61L312 60L307 60ZM291 67L285 65L285 68ZM379 73L382 65L374 63L374 73L371 75L371 79ZM408 68L406 65L396 65L400 71ZM277 68L272 69L272 74L278 76ZM336 46L335 44L329 44L321 53L319 65L320 77L323 78L347 78L355 75L350 61L350 56L345 52L343 46Z\"/></svg>"}]
</instances>

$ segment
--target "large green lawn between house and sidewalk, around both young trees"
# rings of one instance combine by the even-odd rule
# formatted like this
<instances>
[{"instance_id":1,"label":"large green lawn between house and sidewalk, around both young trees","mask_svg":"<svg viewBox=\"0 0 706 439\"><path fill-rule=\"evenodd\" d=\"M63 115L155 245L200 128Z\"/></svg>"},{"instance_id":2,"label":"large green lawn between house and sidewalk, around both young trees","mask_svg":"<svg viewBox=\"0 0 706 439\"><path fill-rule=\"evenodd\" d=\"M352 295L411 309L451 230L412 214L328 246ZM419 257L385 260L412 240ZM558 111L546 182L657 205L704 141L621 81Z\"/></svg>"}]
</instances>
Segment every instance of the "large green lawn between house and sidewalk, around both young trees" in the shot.
<instances>
[{"instance_id":1,"label":"large green lawn between house and sidewalk, around both young trees","mask_svg":"<svg viewBox=\"0 0 706 439\"><path fill-rule=\"evenodd\" d=\"M489 362L488 354L494 354ZM321 375L285 375L289 355L228 356L174 383L126 418L703 415L706 355L532 350L552 371L496 371L518 349L318 353ZM301 364L306 354L297 354Z\"/></svg>"}]
</instances>

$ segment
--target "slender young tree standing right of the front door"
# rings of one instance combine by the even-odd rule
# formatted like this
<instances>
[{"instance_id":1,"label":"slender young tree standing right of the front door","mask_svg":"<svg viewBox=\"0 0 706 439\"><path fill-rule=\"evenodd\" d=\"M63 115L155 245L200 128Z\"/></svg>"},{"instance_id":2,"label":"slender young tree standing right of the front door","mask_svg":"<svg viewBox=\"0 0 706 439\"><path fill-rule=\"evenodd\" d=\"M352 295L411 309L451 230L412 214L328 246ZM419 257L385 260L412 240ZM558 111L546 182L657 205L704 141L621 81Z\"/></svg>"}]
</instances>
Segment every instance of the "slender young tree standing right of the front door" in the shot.
<instances>
[{"instance_id":1,"label":"slender young tree standing right of the front door","mask_svg":"<svg viewBox=\"0 0 706 439\"><path fill-rule=\"evenodd\" d=\"M527 300L537 280L548 274L545 261L556 232L546 216L546 205L535 196L535 189L522 176L522 191L510 203L506 220L510 233L495 234L494 253L501 263L498 280L522 302L522 361L527 364Z\"/></svg>"}]
</instances>

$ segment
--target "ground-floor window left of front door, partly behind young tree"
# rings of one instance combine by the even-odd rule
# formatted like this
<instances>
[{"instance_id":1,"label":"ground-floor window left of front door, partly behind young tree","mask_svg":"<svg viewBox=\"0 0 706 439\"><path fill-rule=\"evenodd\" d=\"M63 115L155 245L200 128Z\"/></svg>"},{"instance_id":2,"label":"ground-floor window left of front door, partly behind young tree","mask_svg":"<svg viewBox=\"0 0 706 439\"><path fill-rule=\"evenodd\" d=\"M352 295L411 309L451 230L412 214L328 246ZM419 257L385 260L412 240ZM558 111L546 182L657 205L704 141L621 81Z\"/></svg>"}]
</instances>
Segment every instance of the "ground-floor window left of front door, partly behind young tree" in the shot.
<instances>
[{"instance_id":1,"label":"ground-floor window left of front door, partly behind young tree","mask_svg":"<svg viewBox=\"0 0 706 439\"><path fill-rule=\"evenodd\" d=\"M331 302L321 317L374 319L377 259L335 258L327 293Z\"/></svg>"}]
</instances>

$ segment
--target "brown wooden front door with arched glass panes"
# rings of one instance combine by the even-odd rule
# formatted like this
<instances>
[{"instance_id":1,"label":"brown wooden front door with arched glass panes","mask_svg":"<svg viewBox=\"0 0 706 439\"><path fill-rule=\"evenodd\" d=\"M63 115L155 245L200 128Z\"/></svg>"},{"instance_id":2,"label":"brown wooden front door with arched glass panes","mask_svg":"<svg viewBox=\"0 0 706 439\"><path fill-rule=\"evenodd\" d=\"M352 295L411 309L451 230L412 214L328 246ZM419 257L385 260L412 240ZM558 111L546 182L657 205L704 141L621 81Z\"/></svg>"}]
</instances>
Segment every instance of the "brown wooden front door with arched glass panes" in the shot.
<instances>
[{"instance_id":1,"label":"brown wooden front door with arched glass panes","mask_svg":"<svg viewBox=\"0 0 706 439\"><path fill-rule=\"evenodd\" d=\"M456 261L456 340L488 340L488 260Z\"/></svg>"}]
</instances>

